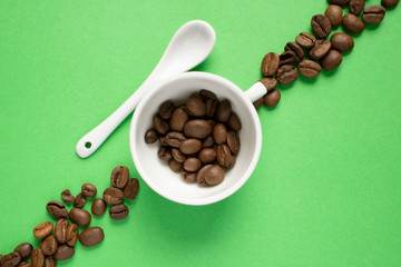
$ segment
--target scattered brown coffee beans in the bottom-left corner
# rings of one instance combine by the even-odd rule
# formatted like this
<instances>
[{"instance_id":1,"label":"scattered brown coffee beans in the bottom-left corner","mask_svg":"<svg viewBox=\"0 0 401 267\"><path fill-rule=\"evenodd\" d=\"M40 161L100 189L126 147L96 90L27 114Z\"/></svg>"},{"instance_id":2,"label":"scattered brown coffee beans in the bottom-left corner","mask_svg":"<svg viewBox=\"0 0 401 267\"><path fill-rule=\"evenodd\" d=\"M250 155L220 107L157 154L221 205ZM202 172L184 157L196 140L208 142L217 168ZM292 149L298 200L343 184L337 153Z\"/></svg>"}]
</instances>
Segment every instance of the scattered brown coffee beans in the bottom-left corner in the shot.
<instances>
[{"instance_id":1,"label":"scattered brown coffee beans in the bottom-left corner","mask_svg":"<svg viewBox=\"0 0 401 267\"><path fill-rule=\"evenodd\" d=\"M113 187L107 188L102 198L96 198L91 205L94 216L102 216L107 205L110 205L109 216L114 220L121 220L128 216L128 207L124 199L134 200L139 190L139 181L129 178L129 170L125 166L117 166L111 171ZM46 205L46 210L57 220L56 225L45 221L33 228L33 236L41 239L38 248L29 243L22 243L8 255L0 255L0 267L56 267L58 260L66 260L75 255L77 241L85 247L94 247L105 239L100 227L91 226L90 214L82 209L88 198L95 198L97 188L91 184L84 184L81 191L74 197L69 189L61 192L61 199L67 205L72 202L74 208L68 211L66 206L57 200ZM70 224L70 221L71 224ZM79 228L84 228L79 233ZM53 233L53 235L52 235ZM31 261L29 261L31 258Z\"/></svg>"}]
</instances>

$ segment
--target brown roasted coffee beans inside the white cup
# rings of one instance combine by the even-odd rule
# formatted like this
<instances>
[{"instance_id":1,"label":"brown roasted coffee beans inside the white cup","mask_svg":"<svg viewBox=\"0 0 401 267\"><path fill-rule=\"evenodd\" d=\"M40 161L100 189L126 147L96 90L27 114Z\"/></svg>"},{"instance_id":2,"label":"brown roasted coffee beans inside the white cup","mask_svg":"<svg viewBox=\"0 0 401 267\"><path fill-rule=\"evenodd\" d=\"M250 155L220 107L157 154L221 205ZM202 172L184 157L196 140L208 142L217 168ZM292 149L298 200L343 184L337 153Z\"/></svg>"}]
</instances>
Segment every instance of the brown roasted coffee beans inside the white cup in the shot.
<instances>
[{"instance_id":1,"label":"brown roasted coffee beans inside the white cup","mask_svg":"<svg viewBox=\"0 0 401 267\"><path fill-rule=\"evenodd\" d=\"M185 181L207 187L221 184L225 169L234 167L241 128L231 102L203 89L184 105L163 102L144 138L146 144L159 141L159 159Z\"/></svg>"}]
</instances>

